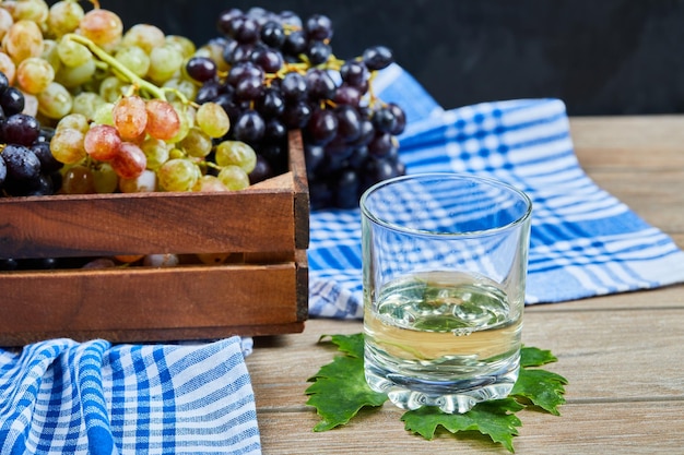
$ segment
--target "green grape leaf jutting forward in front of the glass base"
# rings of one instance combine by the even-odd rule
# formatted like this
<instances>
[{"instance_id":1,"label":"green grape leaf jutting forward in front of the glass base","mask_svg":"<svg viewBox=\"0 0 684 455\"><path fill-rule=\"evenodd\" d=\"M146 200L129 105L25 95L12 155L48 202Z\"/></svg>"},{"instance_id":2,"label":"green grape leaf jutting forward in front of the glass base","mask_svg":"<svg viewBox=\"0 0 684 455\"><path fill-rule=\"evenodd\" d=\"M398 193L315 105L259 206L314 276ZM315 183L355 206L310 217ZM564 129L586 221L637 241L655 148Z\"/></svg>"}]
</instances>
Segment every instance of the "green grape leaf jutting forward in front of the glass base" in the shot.
<instances>
[{"instance_id":1,"label":"green grape leaf jutting forward in front of the glass base","mask_svg":"<svg viewBox=\"0 0 684 455\"><path fill-rule=\"evenodd\" d=\"M518 427L522 422L515 412L524 406L514 398L479 403L464 414L445 414L435 407L423 407L406 411L401 420L408 431L432 440L438 427L457 433L459 431L479 431L492 441L500 443L509 452L514 452L512 439L518 435Z\"/></svg>"}]
</instances>

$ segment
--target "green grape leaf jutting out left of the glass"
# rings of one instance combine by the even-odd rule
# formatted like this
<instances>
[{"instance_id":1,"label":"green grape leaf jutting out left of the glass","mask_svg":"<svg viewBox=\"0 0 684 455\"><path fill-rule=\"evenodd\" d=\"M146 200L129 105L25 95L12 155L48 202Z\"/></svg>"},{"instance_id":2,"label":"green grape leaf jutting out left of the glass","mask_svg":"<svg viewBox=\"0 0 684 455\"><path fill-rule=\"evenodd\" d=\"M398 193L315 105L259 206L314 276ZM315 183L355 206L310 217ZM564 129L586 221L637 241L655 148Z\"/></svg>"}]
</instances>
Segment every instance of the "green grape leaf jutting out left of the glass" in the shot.
<instances>
[{"instance_id":1,"label":"green grape leaf jutting out left of the glass","mask_svg":"<svg viewBox=\"0 0 684 455\"><path fill-rule=\"evenodd\" d=\"M314 406L321 421L314 431L327 431L347 423L366 406L381 406L387 395L368 387L364 375L363 335L334 335L332 343L345 356L337 356L310 378L314 383L305 391L307 405Z\"/></svg>"}]
</instances>

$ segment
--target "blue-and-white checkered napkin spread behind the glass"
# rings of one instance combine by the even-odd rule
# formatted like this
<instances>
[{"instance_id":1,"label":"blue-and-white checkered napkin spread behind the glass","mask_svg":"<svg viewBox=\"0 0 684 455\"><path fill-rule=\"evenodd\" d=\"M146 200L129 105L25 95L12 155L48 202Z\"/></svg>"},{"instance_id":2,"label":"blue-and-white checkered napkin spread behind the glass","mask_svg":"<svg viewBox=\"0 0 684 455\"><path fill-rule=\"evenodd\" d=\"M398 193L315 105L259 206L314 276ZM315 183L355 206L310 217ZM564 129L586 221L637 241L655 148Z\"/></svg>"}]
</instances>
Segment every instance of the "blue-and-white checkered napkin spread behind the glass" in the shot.
<instances>
[{"instance_id":1,"label":"blue-and-white checkered napkin spread behind the glass","mask_svg":"<svg viewBox=\"0 0 684 455\"><path fill-rule=\"evenodd\" d=\"M408 173L493 177L533 201L527 303L562 302L684 282L684 252L579 167L558 99L483 103L444 110L398 65L374 81L406 110L399 137ZM458 89L458 84L455 85ZM311 214L312 318L362 318L358 209Z\"/></svg>"}]
</instances>

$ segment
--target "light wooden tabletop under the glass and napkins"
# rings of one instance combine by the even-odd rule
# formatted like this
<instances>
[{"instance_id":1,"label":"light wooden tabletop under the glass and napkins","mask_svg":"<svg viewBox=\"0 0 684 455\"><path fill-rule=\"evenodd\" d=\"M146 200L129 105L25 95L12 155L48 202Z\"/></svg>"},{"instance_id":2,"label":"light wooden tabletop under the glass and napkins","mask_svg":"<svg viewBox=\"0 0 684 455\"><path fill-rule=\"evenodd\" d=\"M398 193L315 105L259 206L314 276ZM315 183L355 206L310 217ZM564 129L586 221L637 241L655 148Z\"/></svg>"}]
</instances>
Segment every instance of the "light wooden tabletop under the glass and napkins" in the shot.
<instances>
[{"instance_id":1,"label":"light wooden tabletop under the glass and napkins","mask_svg":"<svg viewBox=\"0 0 684 455\"><path fill-rule=\"evenodd\" d=\"M684 248L684 116L570 123L588 175ZM412 435L390 404L314 433L307 379L335 355L317 340L361 331L311 320L303 334L256 339L247 366L264 454L507 453L484 438ZM529 307L523 342L551 349L558 362L546 368L569 385L561 417L522 412L518 454L684 454L684 285Z\"/></svg>"}]
</instances>

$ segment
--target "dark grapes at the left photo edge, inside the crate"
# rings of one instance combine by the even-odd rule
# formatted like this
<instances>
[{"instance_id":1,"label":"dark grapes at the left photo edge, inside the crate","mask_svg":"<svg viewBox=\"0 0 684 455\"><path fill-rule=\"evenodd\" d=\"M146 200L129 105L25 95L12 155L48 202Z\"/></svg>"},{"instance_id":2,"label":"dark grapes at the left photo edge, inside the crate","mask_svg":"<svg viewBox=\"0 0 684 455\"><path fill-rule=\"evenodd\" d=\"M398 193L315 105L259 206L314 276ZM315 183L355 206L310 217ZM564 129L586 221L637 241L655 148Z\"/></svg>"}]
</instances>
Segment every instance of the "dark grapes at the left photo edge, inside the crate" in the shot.
<instances>
[{"instance_id":1,"label":"dark grapes at the left photo edge, inside the crate","mask_svg":"<svg viewBox=\"0 0 684 455\"><path fill-rule=\"evenodd\" d=\"M50 132L24 113L21 91L0 72L0 192L3 195L49 195L61 181L49 147Z\"/></svg>"}]
</instances>

